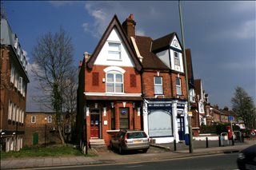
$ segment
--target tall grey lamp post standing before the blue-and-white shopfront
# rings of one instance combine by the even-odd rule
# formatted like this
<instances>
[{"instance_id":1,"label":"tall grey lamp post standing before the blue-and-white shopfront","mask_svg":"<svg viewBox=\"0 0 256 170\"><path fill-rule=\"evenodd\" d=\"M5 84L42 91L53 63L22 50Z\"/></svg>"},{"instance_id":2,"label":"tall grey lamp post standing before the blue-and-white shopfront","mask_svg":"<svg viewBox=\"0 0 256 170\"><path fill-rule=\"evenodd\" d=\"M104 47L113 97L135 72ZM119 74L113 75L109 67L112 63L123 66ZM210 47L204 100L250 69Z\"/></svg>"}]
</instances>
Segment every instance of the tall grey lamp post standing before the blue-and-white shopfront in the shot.
<instances>
[{"instance_id":1,"label":"tall grey lamp post standing before the blue-and-white shopfront","mask_svg":"<svg viewBox=\"0 0 256 170\"><path fill-rule=\"evenodd\" d=\"M189 82L187 77L187 66L186 66L186 48L185 48L185 38L183 33L183 23L182 23L182 5L181 0L178 1L178 9L179 9L179 19L181 24L181 32L182 32L182 46L183 46L183 55L184 55L184 65L185 65L185 77L186 77L186 95L187 95L187 111L190 112L190 90L189 90ZM188 115L188 114L187 114ZM192 144L192 128L191 128L191 119L189 115L187 116L188 125L189 125L189 140L190 140L190 153L193 153L193 144Z\"/></svg>"}]
</instances>

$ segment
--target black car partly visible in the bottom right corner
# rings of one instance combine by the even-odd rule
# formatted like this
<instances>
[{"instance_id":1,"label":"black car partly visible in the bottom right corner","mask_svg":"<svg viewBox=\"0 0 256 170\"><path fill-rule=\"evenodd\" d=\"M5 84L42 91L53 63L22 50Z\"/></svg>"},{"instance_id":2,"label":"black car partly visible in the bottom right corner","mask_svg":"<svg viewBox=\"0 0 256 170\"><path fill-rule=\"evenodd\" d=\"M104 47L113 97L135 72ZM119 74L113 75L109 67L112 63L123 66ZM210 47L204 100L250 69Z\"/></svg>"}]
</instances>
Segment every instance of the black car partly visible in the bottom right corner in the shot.
<instances>
[{"instance_id":1,"label":"black car partly visible in the bottom right corner","mask_svg":"<svg viewBox=\"0 0 256 170\"><path fill-rule=\"evenodd\" d=\"M256 144L238 153L237 164L239 169L256 169Z\"/></svg>"}]
</instances>

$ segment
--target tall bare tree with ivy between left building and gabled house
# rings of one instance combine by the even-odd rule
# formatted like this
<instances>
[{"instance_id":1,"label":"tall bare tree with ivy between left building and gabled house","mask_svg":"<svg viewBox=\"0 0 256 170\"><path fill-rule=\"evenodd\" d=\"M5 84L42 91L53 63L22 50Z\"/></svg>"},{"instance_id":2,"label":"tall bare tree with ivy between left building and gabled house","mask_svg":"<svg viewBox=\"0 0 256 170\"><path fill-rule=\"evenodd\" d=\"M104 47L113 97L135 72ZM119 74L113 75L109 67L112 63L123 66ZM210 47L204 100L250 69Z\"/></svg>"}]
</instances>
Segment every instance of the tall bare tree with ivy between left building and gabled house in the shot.
<instances>
[{"instance_id":1,"label":"tall bare tree with ivy between left building and gabled house","mask_svg":"<svg viewBox=\"0 0 256 170\"><path fill-rule=\"evenodd\" d=\"M62 144L65 144L63 113L76 109L74 97L67 97L76 84L73 51L71 38L62 27L55 34L48 32L38 38L32 51L34 80L39 81L38 88L43 92L38 101L56 113L55 124Z\"/></svg>"}]
</instances>

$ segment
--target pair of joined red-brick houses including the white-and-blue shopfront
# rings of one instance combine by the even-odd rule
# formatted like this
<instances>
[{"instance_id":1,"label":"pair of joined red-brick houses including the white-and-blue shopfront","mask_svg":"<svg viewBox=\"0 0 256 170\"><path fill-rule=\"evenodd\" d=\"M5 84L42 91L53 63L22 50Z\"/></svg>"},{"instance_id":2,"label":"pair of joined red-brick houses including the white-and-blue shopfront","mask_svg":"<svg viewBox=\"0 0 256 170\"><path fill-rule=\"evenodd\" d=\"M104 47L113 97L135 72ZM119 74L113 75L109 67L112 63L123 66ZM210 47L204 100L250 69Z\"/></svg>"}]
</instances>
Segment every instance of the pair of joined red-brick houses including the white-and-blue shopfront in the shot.
<instances>
[{"instance_id":1,"label":"pair of joined red-brick houses including the white-and-blue shopfront","mask_svg":"<svg viewBox=\"0 0 256 170\"><path fill-rule=\"evenodd\" d=\"M135 35L133 14L116 15L79 69L78 135L106 145L122 128L143 129L156 143L188 133L185 65L176 33ZM192 68L192 67L191 67Z\"/></svg>"}]
</instances>

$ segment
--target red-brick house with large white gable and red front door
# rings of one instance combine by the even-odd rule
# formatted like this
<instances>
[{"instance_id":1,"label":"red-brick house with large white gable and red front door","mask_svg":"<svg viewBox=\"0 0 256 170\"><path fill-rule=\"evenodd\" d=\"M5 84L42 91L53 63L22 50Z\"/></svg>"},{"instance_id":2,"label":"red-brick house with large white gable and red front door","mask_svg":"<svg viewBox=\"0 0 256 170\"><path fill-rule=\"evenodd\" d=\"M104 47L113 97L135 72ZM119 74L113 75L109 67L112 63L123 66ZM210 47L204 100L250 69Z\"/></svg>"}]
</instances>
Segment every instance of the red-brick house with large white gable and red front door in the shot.
<instances>
[{"instance_id":1,"label":"red-brick house with large white gable and red front door","mask_svg":"<svg viewBox=\"0 0 256 170\"><path fill-rule=\"evenodd\" d=\"M142 65L117 16L94 53L85 53L79 69L78 134L110 143L119 129L142 129ZM86 122L85 122L86 121Z\"/></svg>"}]
</instances>

